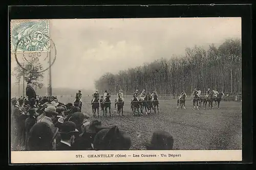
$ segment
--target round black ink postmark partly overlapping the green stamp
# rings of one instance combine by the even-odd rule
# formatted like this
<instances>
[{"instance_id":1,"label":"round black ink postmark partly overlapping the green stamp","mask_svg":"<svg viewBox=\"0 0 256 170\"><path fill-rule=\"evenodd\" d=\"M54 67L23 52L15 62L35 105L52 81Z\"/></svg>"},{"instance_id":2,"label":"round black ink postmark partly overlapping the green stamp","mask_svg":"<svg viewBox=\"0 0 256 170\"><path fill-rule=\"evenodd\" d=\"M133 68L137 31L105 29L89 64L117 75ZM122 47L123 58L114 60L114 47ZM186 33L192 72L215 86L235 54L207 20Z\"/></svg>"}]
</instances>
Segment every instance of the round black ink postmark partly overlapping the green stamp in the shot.
<instances>
[{"instance_id":1,"label":"round black ink postmark partly overlapping the green stamp","mask_svg":"<svg viewBox=\"0 0 256 170\"><path fill-rule=\"evenodd\" d=\"M14 57L18 66L25 71L33 70L37 73L48 70L54 64L56 54L55 43L48 35L39 31L21 37L14 48Z\"/></svg>"}]
</instances>

